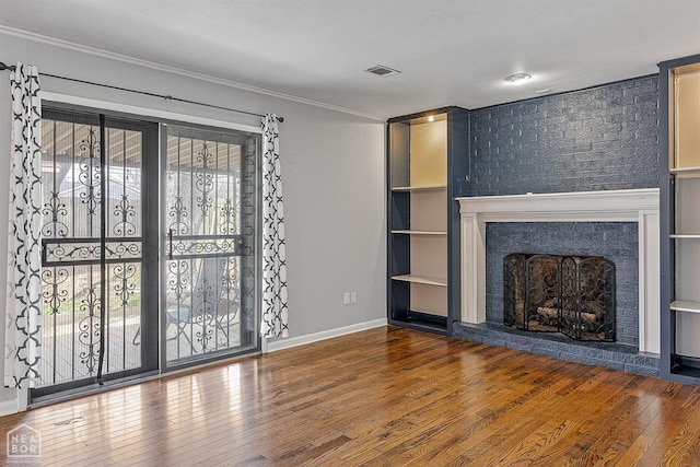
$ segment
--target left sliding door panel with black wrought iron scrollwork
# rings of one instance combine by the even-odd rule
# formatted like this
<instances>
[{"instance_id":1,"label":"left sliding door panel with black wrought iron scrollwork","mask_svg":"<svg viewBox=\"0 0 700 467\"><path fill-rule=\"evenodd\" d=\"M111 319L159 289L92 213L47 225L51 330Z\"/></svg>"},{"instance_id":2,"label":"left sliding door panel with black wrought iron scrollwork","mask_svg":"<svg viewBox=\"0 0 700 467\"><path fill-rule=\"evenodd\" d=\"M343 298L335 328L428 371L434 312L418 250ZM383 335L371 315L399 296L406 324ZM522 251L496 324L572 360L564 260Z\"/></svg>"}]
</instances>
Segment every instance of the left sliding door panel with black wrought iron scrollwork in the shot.
<instances>
[{"instance_id":1,"label":"left sliding door panel with black wrought iron scrollwork","mask_svg":"<svg viewBox=\"0 0 700 467\"><path fill-rule=\"evenodd\" d=\"M43 325L32 397L158 370L158 126L43 112Z\"/></svg>"}]
</instances>

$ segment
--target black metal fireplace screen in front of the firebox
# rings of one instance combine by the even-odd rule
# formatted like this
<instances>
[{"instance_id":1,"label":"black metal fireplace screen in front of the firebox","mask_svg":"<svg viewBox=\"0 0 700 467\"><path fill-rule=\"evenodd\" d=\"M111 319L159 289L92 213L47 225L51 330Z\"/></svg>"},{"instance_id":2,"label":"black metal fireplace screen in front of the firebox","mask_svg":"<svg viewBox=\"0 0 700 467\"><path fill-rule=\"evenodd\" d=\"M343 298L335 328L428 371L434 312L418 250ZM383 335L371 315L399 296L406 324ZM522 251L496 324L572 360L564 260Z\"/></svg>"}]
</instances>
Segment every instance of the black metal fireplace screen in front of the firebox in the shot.
<instances>
[{"instance_id":1,"label":"black metal fireplace screen in front of the firebox","mask_svg":"<svg viewBox=\"0 0 700 467\"><path fill-rule=\"evenodd\" d=\"M515 253L503 260L504 324L615 341L615 264L598 256Z\"/></svg>"}]
</instances>

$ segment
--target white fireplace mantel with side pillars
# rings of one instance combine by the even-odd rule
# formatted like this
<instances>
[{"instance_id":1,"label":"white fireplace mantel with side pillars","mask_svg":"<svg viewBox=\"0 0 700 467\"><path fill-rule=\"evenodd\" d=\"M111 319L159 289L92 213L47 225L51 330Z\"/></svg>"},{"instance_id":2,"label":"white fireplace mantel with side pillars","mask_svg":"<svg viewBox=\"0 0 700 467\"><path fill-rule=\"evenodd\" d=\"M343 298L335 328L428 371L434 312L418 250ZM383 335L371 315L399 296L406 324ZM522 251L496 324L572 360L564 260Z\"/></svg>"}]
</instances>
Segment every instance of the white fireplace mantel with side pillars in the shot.
<instances>
[{"instance_id":1,"label":"white fireplace mantel with side pillars","mask_svg":"<svg viewBox=\"0 0 700 467\"><path fill-rule=\"evenodd\" d=\"M637 222L639 350L660 353L658 189L457 198L462 229L462 320L486 320L487 222Z\"/></svg>"}]
</instances>

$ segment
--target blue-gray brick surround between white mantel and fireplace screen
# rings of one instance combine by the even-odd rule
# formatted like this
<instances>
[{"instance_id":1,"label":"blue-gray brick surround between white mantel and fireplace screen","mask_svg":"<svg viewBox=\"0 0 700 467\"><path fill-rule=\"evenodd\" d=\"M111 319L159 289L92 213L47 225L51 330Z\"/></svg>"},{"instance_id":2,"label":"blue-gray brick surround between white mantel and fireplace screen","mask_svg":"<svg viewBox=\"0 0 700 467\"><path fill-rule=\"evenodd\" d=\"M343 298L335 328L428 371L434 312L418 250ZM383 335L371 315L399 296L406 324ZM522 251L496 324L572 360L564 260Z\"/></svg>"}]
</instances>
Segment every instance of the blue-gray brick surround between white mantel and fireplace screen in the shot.
<instances>
[{"instance_id":1,"label":"blue-gray brick surround between white mantel and fireplace screen","mask_svg":"<svg viewBox=\"0 0 700 467\"><path fill-rule=\"evenodd\" d=\"M615 262L617 342L639 345L634 222L492 222L486 227L487 322L503 323L503 258L511 253L603 256Z\"/></svg>"}]
</instances>

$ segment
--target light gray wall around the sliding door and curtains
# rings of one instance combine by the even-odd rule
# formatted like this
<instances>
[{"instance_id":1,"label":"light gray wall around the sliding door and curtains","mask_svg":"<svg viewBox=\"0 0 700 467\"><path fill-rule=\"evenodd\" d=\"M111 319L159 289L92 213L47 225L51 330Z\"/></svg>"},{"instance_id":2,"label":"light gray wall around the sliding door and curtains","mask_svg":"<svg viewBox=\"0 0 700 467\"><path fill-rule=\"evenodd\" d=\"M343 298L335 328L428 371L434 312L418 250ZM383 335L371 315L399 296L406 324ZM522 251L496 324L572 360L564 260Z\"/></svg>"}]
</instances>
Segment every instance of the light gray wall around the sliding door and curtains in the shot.
<instances>
[{"instance_id":1,"label":"light gray wall around the sliding door and curtains","mask_svg":"<svg viewBox=\"0 0 700 467\"><path fill-rule=\"evenodd\" d=\"M0 60L5 63L36 65L39 72L284 116L280 141L290 336L303 337L386 317L384 122L16 36L0 34ZM259 122L258 118L238 114L50 78L42 79L42 89L188 116L255 126ZM0 148L8 149L7 91L0 92ZM8 157L2 161L0 173L7 177ZM8 219L7 205L8 190L0 190L2 222ZM5 235L0 233L0 244L7 242ZM5 264L5 249L0 248L0 264ZM0 268L0 282L4 283L4 278L5 270ZM358 292L357 304L342 305L346 291ZM3 305L0 318L4 319ZM0 404L13 397L14 392L0 389Z\"/></svg>"}]
</instances>

